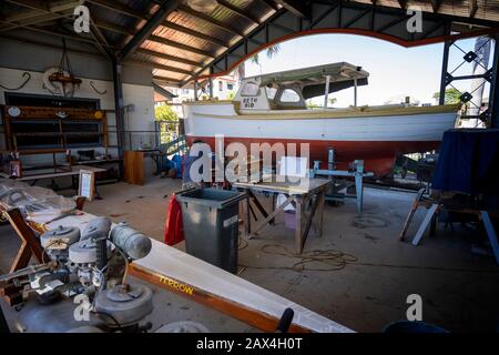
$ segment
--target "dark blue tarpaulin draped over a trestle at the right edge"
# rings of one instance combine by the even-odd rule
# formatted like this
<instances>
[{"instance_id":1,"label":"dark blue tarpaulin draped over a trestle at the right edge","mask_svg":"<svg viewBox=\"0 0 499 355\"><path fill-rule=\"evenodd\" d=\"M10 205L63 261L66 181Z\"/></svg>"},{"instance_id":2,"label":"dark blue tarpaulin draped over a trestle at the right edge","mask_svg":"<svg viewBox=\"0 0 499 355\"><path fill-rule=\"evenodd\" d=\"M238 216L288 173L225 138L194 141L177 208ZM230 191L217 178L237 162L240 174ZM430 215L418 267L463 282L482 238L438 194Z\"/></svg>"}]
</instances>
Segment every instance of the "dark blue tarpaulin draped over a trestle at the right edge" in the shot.
<instances>
[{"instance_id":1,"label":"dark blue tarpaulin draped over a trestle at the right edge","mask_svg":"<svg viewBox=\"0 0 499 355\"><path fill-rule=\"evenodd\" d=\"M467 194L499 194L499 130L445 132L431 186Z\"/></svg>"}]
</instances>

